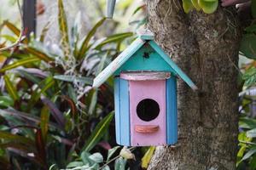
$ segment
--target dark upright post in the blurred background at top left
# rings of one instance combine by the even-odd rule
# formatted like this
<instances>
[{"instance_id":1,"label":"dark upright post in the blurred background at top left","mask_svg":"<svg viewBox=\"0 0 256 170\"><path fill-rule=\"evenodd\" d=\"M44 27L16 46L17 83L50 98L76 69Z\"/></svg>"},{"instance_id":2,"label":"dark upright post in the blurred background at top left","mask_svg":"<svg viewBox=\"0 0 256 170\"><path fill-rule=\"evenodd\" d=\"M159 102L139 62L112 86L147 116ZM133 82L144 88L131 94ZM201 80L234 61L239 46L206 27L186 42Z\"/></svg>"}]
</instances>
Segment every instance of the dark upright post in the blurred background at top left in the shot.
<instances>
[{"instance_id":1,"label":"dark upright post in the blurred background at top left","mask_svg":"<svg viewBox=\"0 0 256 170\"><path fill-rule=\"evenodd\" d=\"M23 23L26 37L29 37L32 32L36 34L36 4L37 0L23 0Z\"/></svg>"}]
</instances>

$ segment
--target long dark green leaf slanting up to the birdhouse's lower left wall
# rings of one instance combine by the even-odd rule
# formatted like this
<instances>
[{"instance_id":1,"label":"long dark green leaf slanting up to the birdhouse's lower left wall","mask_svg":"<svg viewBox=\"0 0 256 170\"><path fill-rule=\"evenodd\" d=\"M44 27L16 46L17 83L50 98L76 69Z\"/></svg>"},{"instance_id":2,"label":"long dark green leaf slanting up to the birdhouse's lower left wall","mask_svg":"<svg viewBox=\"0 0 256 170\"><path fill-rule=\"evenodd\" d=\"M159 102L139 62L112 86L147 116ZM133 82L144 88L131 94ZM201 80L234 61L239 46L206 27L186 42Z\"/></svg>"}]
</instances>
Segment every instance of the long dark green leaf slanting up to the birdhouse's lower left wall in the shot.
<instances>
[{"instance_id":1,"label":"long dark green leaf slanting up to the birdhouse's lower left wall","mask_svg":"<svg viewBox=\"0 0 256 170\"><path fill-rule=\"evenodd\" d=\"M108 116L105 116L102 121L97 124L96 128L90 134L89 139L84 145L83 150L90 151L99 142L99 140L102 139L102 136L107 132L112 119L113 112L109 113Z\"/></svg>"}]
</instances>

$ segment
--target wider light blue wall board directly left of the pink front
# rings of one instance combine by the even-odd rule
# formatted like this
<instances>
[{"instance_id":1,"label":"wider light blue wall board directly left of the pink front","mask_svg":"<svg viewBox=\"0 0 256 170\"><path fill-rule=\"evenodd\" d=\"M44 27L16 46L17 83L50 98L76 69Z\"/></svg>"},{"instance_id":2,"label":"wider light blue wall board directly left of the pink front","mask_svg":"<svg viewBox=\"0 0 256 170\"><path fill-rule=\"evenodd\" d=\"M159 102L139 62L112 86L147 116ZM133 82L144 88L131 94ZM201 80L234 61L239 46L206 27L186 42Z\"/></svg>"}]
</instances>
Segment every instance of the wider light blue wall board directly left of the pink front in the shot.
<instances>
[{"instance_id":1,"label":"wider light blue wall board directly left of the pink front","mask_svg":"<svg viewBox=\"0 0 256 170\"><path fill-rule=\"evenodd\" d=\"M129 105L129 83L125 79L119 79L119 133L120 144L130 146L130 105Z\"/></svg>"}]
</instances>

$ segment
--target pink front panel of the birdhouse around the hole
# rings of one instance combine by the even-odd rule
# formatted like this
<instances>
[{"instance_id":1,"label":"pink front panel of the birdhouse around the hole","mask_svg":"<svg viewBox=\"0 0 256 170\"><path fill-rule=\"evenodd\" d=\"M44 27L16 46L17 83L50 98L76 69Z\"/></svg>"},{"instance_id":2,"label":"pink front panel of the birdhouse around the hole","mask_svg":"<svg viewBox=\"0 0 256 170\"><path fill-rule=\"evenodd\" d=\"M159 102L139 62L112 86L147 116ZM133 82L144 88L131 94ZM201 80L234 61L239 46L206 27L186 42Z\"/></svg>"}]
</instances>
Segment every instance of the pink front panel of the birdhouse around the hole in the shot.
<instances>
[{"instance_id":1,"label":"pink front panel of the birdhouse around the hole","mask_svg":"<svg viewBox=\"0 0 256 170\"><path fill-rule=\"evenodd\" d=\"M131 145L166 144L166 80L130 81L129 89ZM159 115L154 120L147 122L137 116L137 105L143 99L154 99L158 103ZM150 114L150 111L147 111L146 114ZM142 127L145 127L145 129L142 129ZM151 129L148 129L148 127L151 127Z\"/></svg>"}]
</instances>

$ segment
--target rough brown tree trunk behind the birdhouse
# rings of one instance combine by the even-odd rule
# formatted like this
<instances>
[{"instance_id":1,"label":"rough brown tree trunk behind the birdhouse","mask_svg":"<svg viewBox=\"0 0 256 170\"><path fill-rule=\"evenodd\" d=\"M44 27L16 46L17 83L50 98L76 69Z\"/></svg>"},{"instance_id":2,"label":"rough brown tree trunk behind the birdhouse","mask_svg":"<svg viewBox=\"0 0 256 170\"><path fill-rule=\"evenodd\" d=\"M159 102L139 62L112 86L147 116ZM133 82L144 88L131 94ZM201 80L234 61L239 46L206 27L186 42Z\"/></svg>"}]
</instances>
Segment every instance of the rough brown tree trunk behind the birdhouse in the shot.
<instances>
[{"instance_id":1,"label":"rough brown tree trunk behind the birdhouse","mask_svg":"<svg viewBox=\"0 0 256 170\"><path fill-rule=\"evenodd\" d=\"M236 169L236 15L221 7L214 14L184 14L180 2L148 0L148 27L199 90L178 81L178 142L158 147L148 169Z\"/></svg>"}]
</instances>

